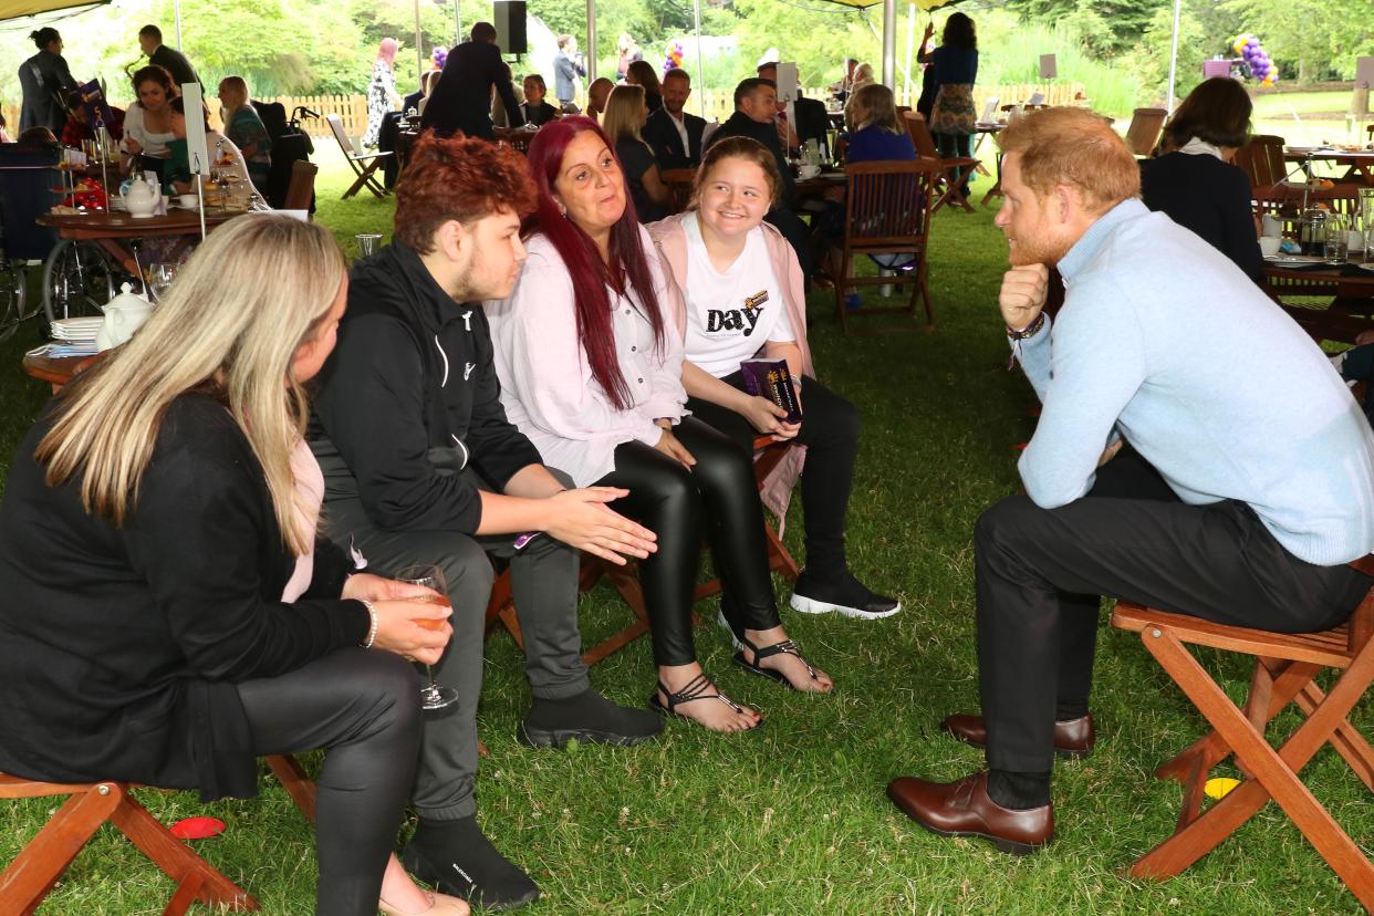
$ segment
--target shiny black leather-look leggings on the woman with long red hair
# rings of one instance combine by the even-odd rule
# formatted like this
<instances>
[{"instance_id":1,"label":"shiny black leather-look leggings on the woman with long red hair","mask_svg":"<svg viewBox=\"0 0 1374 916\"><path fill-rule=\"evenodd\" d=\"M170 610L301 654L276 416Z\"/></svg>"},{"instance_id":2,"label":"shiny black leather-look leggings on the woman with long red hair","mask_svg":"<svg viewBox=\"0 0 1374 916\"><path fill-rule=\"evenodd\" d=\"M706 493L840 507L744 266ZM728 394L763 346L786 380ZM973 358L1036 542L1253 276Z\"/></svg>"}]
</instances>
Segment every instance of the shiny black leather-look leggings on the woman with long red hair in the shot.
<instances>
[{"instance_id":1,"label":"shiny black leather-look leggings on the woman with long red hair","mask_svg":"<svg viewBox=\"0 0 1374 916\"><path fill-rule=\"evenodd\" d=\"M721 582L720 608L736 634L778 626L778 604L768 575L764 514L749 455L694 417L673 434L697 459L687 470L639 441L616 448L616 470L596 481L629 496L611 503L658 536L658 552L639 562L639 584L654 640L655 665L697 661L691 637L692 591L701 538L710 544Z\"/></svg>"}]
</instances>

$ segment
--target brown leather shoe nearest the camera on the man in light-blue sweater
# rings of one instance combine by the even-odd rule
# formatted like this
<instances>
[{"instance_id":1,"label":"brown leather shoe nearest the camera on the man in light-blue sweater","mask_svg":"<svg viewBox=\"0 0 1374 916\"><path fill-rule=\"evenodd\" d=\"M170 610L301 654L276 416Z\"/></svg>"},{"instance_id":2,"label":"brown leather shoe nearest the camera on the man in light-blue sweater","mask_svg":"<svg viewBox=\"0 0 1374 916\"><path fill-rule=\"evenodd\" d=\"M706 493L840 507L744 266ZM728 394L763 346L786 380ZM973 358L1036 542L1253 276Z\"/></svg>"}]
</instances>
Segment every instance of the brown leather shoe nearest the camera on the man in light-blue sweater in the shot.
<instances>
[{"instance_id":1,"label":"brown leather shoe nearest the camera on the man in light-blue sweater","mask_svg":"<svg viewBox=\"0 0 1374 916\"><path fill-rule=\"evenodd\" d=\"M1003 853L1025 856L1054 839L1054 805L1022 812L988 798L988 775L954 783L901 776L888 783L888 798L901 812L941 836L981 836Z\"/></svg>"}]
</instances>

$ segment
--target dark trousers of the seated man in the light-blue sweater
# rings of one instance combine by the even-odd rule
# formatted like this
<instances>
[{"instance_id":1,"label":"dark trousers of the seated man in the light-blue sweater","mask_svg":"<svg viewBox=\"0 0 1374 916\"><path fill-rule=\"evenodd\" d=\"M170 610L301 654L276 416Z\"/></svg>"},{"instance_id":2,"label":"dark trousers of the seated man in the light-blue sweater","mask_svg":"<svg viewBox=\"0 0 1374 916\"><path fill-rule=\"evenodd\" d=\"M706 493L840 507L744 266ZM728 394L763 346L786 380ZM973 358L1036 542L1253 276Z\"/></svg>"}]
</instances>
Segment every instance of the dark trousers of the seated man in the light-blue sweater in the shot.
<instances>
[{"instance_id":1,"label":"dark trousers of the seated man in the light-blue sweater","mask_svg":"<svg viewBox=\"0 0 1374 916\"><path fill-rule=\"evenodd\" d=\"M978 518L978 681L988 765L1051 769L1054 722L1088 709L1099 595L1283 633L1348 618L1370 577L1289 553L1245 503L1186 505L1139 455L1055 509L1009 497Z\"/></svg>"}]
</instances>

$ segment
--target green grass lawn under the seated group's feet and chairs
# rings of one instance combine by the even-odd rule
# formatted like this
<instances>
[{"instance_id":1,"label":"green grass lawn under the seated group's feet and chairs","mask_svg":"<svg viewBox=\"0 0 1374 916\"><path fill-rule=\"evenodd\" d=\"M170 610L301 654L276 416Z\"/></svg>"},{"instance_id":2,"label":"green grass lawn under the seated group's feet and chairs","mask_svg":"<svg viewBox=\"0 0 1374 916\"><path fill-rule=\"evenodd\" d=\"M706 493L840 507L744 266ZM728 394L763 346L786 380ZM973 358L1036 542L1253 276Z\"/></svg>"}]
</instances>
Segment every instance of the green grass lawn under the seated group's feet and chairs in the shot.
<instances>
[{"instance_id":1,"label":"green grass lawn under the seated group's feet and chairs","mask_svg":"<svg viewBox=\"0 0 1374 916\"><path fill-rule=\"evenodd\" d=\"M338 202L346 187L339 162L322 158L319 220L344 239L389 227L389 201ZM976 185L980 195L985 187ZM1017 860L981 842L925 834L883 797L897 775L954 779L982 765L980 751L936 726L977 707L970 534L978 512L1017 490L1014 445L1032 433L1033 396L1007 372L995 305L1004 260L991 210L941 213L930 271L936 331L885 320L872 325L882 334L842 336L830 295L809 304L819 375L863 412L851 562L905 604L881 622L783 611L789 630L835 677L834 695L785 692L734 669L725 634L712 625L697 633L702 663L723 689L763 711L757 732L725 737L675 722L639 748L530 751L514 739L529 702L519 652L504 633L491 639L481 735L492 755L478 781L481 820L543 887L532 913L1360 912L1274 805L1183 878L1158 884L1123 876L1173 829L1180 788L1156 781L1151 769L1202 728L1134 634L1102 632L1098 747L1085 761L1058 765L1058 839L1044 851ZM11 367L0 376L4 455L44 400L18 369L37 341L37 330L25 328L0 346L0 364ZM786 540L800 552L801 507L793 507ZM786 600L780 581L778 595ZM699 611L716 617L713 602ZM599 588L583 602L584 639L600 639L627 614ZM1205 661L1220 665L1232 694L1243 689L1248 672L1237 659ZM622 703L643 703L653 680L647 640L592 672L594 684ZM1369 705L1356 725L1374 728ZM1344 761L1323 750L1305 775L1367 847L1370 797ZM311 831L269 776L251 801L140 797L165 823L223 818L228 831L196 849L264 912L312 912ZM0 805L0 862L54 808L47 799ZM170 893L170 882L107 828L43 912L158 913Z\"/></svg>"}]
</instances>

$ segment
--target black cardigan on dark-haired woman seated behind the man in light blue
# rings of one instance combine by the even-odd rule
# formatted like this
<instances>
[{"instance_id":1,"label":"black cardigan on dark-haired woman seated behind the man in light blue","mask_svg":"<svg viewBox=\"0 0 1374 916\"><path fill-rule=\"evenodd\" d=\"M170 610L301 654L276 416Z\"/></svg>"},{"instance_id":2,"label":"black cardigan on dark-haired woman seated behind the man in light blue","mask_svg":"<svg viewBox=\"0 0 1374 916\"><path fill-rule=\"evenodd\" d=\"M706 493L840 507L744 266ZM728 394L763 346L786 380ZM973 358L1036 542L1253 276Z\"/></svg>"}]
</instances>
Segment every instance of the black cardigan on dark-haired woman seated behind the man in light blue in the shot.
<instances>
[{"instance_id":1,"label":"black cardigan on dark-haired woman seated behind the man in light blue","mask_svg":"<svg viewBox=\"0 0 1374 916\"><path fill-rule=\"evenodd\" d=\"M1250 279L1263 280L1245 172L1215 155L1169 152L1140 163L1140 198L1231 258Z\"/></svg>"}]
</instances>

